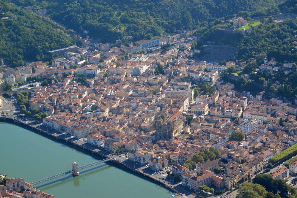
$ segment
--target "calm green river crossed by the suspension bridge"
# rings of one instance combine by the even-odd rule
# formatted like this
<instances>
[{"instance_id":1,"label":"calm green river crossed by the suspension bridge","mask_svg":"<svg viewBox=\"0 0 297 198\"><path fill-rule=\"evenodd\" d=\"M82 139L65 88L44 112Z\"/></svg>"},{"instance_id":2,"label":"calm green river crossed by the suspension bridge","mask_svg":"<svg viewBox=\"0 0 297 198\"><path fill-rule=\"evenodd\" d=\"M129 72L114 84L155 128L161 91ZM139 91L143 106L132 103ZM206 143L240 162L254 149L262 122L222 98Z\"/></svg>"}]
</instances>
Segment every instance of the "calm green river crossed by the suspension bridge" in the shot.
<instances>
[{"instance_id":1,"label":"calm green river crossed by the suspension bridge","mask_svg":"<svg viewBox=\"0 0 297 198\"><path fill-rule=\"evenodd\" d=\"M0 173L34 182L78 166L98 161L87 154L19 126L0 122ZM84 169L77 177L65 175L34 186L62 197L166 198L172 192L108 164Z\"/></svg>"}]
</instances>

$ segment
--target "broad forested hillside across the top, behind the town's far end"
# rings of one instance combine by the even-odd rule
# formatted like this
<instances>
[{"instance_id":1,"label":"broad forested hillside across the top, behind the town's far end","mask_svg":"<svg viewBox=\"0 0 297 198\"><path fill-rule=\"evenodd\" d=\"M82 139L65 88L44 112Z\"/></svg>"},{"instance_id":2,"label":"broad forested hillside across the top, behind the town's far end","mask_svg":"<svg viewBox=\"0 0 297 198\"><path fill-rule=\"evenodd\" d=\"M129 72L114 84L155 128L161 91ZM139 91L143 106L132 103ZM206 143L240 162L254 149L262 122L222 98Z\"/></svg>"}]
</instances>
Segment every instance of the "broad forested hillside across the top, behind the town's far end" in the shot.
<instances>
[{"instance_id":1,"label":"broad forested hillside across the top, behind the town's far end","mask_svg":"<svg viewBox=\"0 0 297 198\"><path fill-rule=\"evenodd\" d=\"M20 0L15 3L46 8L55 21L68 28L86 29L101 42L114 42L123 36L133 40L150 39L176 30L193 30L212 18L261 11L279 0ZM148 27L153 27L146 30ZM123 30L123 34L112 29Z\"/></svg>"}]
</instances>

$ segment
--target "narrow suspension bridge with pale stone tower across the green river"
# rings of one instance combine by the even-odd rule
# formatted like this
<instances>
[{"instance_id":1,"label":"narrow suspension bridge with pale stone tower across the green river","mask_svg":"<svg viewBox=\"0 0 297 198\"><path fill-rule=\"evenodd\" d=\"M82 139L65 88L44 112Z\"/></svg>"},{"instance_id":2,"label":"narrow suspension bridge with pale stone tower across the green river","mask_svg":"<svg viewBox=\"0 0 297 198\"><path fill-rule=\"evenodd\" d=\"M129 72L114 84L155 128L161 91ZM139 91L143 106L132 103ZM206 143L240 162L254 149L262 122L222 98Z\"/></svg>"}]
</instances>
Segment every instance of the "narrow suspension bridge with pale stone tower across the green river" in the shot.
<instances>
[{"instance_id":1,"label":"narrow suspension bridge with pale stone tower across the green river","mask_svg":"<svg viewBox=\"0 0 297 198\"><path fill-rule=\"evenodd\" d=\"M62 177L63 175L67 175L69 173L72 173L72 175L77 176L77 175L79 175L79 170L82 170L82 169L85 169L85 168L88 168L88 167L92 167L92 166L95 166L95 165L98 165L98 164L101 164L101 163L104 163L104 162L107 162L107 161L110 161L110 160L111 160L111 158L107 158L107 159L103 159L103 160L100 160L100 161L95 161L95 162L90 163L90 164L86 164L86 165L81 166L81 167L78 167L78 163L74 161L74 162L72 162L72 170L67 170L65 172L61 172L61 173L58 173L56 175L52 175L52 176L44 178L44 179L34 181L31 184L32 185L40 184L40 183L43 183L43 182L48 181L48 180L52 180L52 179L55 179L55 178L58 178L58 177Z\"/></svg>"}]
</instances>

